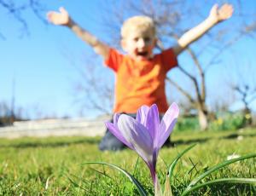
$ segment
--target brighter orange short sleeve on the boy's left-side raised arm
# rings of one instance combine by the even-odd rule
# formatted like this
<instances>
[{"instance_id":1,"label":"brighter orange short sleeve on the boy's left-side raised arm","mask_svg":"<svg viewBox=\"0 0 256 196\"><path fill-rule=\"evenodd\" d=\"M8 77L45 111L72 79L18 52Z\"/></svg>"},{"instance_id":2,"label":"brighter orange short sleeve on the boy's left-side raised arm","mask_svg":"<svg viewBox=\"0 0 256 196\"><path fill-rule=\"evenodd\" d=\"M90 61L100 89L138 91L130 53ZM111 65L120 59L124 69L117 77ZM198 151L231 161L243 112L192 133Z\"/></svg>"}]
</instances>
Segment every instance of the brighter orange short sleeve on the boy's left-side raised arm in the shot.
<instances>
[{"instance_id":1,"label":"brighter orange short sleeve on the boy's left-side raised arm","mask_svg":"<svg viewBox=\"0 0 256 196\"><path fill-rule=\"evenodd\" d=\"M113 69L113 72L117 72L119 65L123 59L124 55L119 54L116 49L109 49L108 59L104 61L105 65Z\"/></svg>"}]
</instances>

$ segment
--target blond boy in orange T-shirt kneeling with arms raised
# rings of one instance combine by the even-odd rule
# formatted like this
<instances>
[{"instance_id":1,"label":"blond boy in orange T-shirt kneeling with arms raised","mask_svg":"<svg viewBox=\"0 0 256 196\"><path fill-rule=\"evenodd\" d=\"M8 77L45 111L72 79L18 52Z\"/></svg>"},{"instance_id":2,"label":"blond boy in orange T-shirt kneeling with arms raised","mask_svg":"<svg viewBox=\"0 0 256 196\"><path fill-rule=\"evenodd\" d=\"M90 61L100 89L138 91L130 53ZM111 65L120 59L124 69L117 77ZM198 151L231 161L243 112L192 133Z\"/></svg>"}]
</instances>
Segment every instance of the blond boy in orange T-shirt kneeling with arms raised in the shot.
<instances>
[{"instance_id":1,"label":"blond boy in orange T-shirt kneeling with arms raised","mask_svg":"<svg viewBox=\"0 0 256 196\"><path fill-rule=\"evenodd\" d=\"M78 37L102 55L105 64L115 72L115 104L113 112L125 112L136 117L138 107L156 104L160 113L166 112L168 105L165 93L166 73L177 66L177 55L183 49L204 35L212 26L231 17L233 8L224 4L220 9L214 5L206 20L184 33L171 49L158 55L153 54L157 38L152 19L135 16L125 21L121 29L121 46L127 55L99 41L90 32L77 25L64 8L60 12L50 11L49 22L69 27ZM100 143L100 149L119 150L124 145L108 130Z\"/></svg>"}]
</instances>

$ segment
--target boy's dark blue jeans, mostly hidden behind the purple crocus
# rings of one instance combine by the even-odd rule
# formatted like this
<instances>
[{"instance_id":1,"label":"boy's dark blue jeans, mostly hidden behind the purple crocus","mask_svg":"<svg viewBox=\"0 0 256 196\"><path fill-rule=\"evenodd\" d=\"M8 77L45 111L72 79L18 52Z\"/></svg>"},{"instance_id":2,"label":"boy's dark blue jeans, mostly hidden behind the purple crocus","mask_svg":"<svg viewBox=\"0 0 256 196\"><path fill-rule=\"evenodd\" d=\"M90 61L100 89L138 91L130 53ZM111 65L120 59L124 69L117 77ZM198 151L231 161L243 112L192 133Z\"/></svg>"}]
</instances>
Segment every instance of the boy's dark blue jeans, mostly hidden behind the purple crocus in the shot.
<instances>
[{"instance_id":1,"label":"boy's dark blue jeans, mostly hidden behind the purple crocus","mask_svg":"<svg viewBox=\"0 0 256 196\"><path fill-rule=\"evenodd\" d=\"M127 115L132 118L136 118L136 113L127 113ZM160 119L163 116L160 115ZM111 119L111 123L113 123L113 118ZM170 146L171 141L167 140L164 146ZM103 136L102 141L99 144L99 149L101 151L119 151L124 149L126 146L119 139L117 139L108 129L106 130L106 134Z\"/></svg>"}]
</instances>

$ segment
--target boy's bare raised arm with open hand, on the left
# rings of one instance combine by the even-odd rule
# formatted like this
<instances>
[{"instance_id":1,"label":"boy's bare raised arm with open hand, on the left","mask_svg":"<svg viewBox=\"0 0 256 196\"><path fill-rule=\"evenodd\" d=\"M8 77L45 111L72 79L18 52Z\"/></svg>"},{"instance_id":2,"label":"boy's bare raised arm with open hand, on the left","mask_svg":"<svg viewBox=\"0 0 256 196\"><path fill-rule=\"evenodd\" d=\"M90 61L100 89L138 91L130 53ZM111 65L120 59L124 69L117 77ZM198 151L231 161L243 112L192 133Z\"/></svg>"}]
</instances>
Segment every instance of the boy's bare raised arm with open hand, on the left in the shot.
<instances>
[{"instance_id":1,"label":"boy's bare raised arm with open hand, on the left","mask_svg":"<svg viewBox=\"0 0 256 196\"><path fill-rule=\"evenodd\" d=\"M50 11L47 14L49 22L58 26L67 26L69 27L79 38L84 40L85 43L88 43L98 55L102 55L104 59L108 58L109 47L107 44L102 43L95 37L90 34L90 32L85 31L79 25L77 25L68 15L67 10L60 8L60 12Z\"/></svg>"}]
</instances>

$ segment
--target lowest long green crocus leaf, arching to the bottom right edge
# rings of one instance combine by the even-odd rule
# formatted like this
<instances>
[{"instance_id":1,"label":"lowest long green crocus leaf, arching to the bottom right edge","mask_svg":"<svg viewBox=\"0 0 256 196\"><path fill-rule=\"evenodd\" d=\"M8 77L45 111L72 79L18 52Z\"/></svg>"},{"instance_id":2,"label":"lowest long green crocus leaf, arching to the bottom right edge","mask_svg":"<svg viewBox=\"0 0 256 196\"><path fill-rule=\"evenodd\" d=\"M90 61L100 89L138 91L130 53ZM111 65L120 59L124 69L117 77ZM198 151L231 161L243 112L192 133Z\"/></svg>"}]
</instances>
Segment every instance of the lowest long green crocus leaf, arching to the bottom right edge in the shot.
<instances>
[{"instance_id":1,"label":"lowest long green crocus leaf, arching to the bottom right edge","mask_svg":"<svg viewBox=\"0 0 256 196\"><path fill-rule=\"evenodd\" d=\"M182 193L182 196L187 195L188 193L195 191L201 187L209 186L212 184L218 184L218 183L239 183L239 184L255 184L256 185L256 179L254 178L221 178L210 182L201 183L197 186L191 187L189 190L184 191Z\"/></svg>"}]
</instances>

